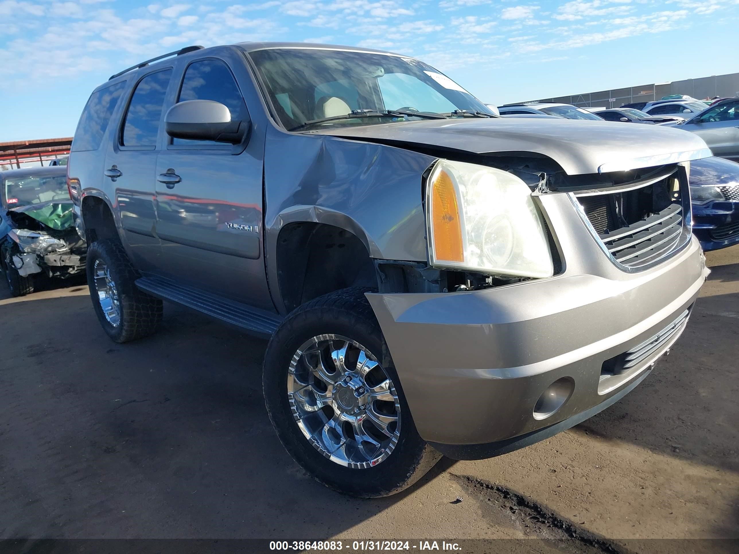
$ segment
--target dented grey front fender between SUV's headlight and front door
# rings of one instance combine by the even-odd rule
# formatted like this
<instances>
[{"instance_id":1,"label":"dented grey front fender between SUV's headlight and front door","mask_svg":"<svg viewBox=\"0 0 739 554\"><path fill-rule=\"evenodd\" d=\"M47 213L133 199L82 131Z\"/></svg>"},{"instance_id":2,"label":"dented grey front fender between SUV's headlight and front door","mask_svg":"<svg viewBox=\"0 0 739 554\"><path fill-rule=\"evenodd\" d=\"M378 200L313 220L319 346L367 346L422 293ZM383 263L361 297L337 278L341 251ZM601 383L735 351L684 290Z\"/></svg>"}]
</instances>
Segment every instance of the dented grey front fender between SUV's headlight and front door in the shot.
<instances>
[{"instance_id":1,"label":"dented grey front fender between SUV's headlight and front door","mask_svg":"<svg viewBox=\"0 0 739 554\"><path fill-rule=\"evenodd\" d=\"M344 228L372 258L426 261L422 179L435 160L393 146L269 129L264 230L273 295L279 290L277 240L288 223ZM276 301L282 304L281 298Z\"/></svg>"}]
</instances>

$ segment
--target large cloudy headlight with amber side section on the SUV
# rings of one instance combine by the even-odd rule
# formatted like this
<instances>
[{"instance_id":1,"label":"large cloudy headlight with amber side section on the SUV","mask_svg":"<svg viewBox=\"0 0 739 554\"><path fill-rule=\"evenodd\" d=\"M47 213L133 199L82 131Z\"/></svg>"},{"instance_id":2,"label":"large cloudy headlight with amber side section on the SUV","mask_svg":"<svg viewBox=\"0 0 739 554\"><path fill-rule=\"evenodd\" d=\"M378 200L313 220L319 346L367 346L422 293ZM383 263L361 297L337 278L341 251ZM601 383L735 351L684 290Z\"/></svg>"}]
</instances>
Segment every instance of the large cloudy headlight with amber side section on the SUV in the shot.
<instances>
[{"instance_id":1,"label":"large cloudy headlight with amber side section on the SUV","mask_svg":"<svg viewBox=\"0 0 739 554\"><path fill-rule=\"evenodd\" d=\"M507 171L437 161L426 182L426 212L435 267L500 276L554 275L531 189Z\"/></svg>"}]
</instances>

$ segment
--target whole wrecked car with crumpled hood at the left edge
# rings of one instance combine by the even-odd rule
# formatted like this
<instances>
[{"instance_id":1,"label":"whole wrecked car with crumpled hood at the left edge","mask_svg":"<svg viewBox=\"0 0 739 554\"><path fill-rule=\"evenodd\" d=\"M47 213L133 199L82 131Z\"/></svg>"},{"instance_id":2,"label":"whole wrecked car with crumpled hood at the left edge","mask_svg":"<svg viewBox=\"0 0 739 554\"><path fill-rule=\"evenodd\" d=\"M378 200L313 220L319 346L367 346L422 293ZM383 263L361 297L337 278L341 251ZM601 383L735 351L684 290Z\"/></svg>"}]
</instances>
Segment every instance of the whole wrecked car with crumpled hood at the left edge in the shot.
<instances>
[{"instance_id":1,"label":"whole wrecked car with crumpled hood at the left edge","mask_svg":"<svg viewBox=\"0 0 739 554\"><path fill-rule=\"evenodd\" d=\"M33 293L37 276L84 274L86 244L75 229L67 168L0 172L0 267L10 293Z\"/></svg>"}]
</instances>

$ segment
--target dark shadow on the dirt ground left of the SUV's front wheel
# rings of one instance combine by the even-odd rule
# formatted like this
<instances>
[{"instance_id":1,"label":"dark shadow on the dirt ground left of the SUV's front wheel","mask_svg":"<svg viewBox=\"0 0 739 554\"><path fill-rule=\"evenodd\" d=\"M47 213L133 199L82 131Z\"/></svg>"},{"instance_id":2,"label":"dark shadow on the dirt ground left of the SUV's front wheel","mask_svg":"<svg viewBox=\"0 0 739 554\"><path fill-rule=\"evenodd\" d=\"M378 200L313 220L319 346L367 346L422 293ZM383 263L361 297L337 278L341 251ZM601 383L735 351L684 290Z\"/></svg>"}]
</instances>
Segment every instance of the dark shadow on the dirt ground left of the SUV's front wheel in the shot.
<instances>
[{"instance_id":1,"label":"dark shadow on the dirt ground left of the SUV's front wheel","mask_svg":"<svg viewBox=\"0 0 739 554\"><path fill-rule=\"evenodd\" d=\"M328 538L410 493L352 499L290 459L265 341L166 304L157 335L119 345L86 296L29 300L0 307L0 537Z\"/></svg>"}]
</instances>

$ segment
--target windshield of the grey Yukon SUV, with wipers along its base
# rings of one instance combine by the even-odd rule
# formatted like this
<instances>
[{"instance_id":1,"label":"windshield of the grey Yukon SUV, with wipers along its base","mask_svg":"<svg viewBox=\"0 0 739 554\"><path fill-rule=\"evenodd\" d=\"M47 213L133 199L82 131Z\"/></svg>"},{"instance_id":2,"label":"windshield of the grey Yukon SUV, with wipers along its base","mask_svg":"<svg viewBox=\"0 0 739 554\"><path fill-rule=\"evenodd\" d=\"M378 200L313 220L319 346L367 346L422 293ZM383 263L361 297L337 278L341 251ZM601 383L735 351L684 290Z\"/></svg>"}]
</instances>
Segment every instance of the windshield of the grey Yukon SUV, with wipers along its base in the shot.
<instances>
[{"instance_id":1,"label":"windshield of the grey Yukon SUV, with wipers along its base","mask_svg":"<svg viewBox=\"0 0 739 554\"><path fill-rule=\"evenodd\" d=\"M446 75L412 58L323 49L265 49L249 53L267 95L285 126L351 114L352 110L400 110L445 114L469 110L493 114ZM412 116L362 117L315 122L326 126L371 125Z\"/></svg>"}]
</instances>

